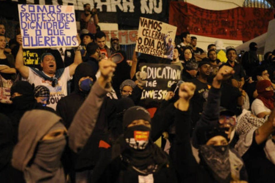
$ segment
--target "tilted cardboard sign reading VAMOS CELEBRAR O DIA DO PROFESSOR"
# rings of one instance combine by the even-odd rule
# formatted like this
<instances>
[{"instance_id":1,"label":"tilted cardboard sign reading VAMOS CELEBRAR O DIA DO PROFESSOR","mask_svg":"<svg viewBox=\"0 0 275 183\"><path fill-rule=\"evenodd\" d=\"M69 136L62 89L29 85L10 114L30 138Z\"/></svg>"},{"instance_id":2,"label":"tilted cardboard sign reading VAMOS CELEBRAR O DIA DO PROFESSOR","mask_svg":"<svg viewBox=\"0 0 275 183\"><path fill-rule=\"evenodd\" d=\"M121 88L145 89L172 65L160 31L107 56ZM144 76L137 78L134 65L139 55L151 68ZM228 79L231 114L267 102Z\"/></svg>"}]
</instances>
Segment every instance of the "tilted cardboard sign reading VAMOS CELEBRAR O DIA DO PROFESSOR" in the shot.
<instances>
[{"instance_id":1,"label":"tilted cardboard sign reading VAMOS CELEBRAR O DIA DO PROFESSOR","mask_svg":"<svg viewBox=\"0 0 275 183\"><path fill-rule=\"evenodd\" d=\"M140 17L135 51L172 59L176 31L173 25Z\"/></svg>"}]
</instances>

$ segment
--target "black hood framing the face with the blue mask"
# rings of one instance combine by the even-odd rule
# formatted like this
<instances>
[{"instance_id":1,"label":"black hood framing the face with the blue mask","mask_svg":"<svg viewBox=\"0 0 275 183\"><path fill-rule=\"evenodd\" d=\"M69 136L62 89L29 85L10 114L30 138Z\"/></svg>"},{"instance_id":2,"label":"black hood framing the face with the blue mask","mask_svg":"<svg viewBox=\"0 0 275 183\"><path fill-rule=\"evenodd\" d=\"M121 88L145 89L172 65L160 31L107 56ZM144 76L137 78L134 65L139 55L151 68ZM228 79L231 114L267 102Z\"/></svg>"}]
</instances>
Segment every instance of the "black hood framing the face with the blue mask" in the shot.
<instances>
[{"instance_id":1,"label":"black hood framing the face with the blue mask","mask_svg":"<svg viewBox=\"0 0 275 183\"><path fill-rule=\"evenodd\" d=\"M93 82L91 82L90 79L85 79L84 81L82 81L80 83L80 87L82 89L82 91L79 90L79 79L81 79L82 77L87 77L90 76L91 78L93 78ZM93 72L93 67L89 64L89 63L80 63L74 72L74 89L75 92L80 92L83 94L88 94L93 83L95 83L95 81L97 80L97 78L95 77L95 73Z\"/></svg>"}]
</instances>

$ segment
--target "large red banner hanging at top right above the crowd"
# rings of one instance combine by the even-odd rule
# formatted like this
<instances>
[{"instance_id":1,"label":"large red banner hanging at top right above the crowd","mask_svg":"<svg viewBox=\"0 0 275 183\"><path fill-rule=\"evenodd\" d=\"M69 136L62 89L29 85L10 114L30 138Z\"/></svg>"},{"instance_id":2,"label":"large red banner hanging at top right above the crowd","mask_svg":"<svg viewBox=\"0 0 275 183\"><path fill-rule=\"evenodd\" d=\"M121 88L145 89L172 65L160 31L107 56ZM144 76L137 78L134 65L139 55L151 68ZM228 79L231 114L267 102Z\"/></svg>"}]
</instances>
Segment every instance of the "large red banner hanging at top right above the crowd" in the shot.
<instances>
[{"instance_id":1,"label":"large red banner hanging at top right above the crowd","mask_svg":"<svg viewBox=\"0 0 275 183\"><path fill-rule=\"evenodd\" d=\"M184 31L208 37L248 41L262 35L273 19L272 9L244 8L214 11L184 2L170 2L169 24Z\"/></svg>"}]
</instances>

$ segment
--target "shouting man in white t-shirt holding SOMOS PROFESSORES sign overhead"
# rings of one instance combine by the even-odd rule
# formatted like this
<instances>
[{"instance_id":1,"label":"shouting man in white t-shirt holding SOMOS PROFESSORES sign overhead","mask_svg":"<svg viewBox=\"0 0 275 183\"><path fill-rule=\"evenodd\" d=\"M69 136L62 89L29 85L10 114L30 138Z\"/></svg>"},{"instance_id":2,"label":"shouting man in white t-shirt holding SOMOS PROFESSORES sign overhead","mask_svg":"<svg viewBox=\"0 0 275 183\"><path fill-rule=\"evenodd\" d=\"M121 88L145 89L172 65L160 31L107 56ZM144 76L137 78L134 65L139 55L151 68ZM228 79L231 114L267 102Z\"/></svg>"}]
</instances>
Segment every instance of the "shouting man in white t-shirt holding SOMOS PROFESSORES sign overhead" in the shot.
<instances>
[{"instance_id":1,"label":"shouting man in white t-shirt holding SOMOS PROFESSORES sign overhead","mask_svg":"<svg viewBox=\"0 0 275 183\"><path fill-rule=\"evenodd\" d=\"M15 68L20 72L22 77L31 84L44 85L50 89L50 100L47 103L48 107L55 110L56 104L60 98L67 95L67 81L72 79L76 66L82 62L79 49L75 52L74 62L66 68L56 69L56 61L51 53L44 53L41 56L40 66L42 71L25 66L23 63L22 36L17 35L17 42L20 47L16 55ZM80 38L77 36L78 44Z\"/></svg>"}]
</instances>

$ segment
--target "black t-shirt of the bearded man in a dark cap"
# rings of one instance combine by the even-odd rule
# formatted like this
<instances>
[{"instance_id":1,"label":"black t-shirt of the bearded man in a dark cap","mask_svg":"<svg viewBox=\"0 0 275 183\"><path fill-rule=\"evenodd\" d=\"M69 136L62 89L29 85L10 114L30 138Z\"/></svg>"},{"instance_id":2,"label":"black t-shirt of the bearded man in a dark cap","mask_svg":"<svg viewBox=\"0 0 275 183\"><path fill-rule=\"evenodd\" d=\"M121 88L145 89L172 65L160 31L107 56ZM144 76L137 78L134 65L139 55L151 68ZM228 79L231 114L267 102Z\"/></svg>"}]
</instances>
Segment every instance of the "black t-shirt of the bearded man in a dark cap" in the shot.
<instances>
[{"instance_id":1,"label":"black t-shirt of the bearded man in a dark cap","mask_svg":"<svg viewBox=\"0 0 275 183\"><path fill-rule=\"evenodd\" d=\"M203 83L197 78L192 80L192 83L196 85L196 90L194 96L191 99L192 103L192 128L195 127L195 124L201 117L203 112L203 106L206 104L208 92L211 87L208 83Z\"/></svg>"}]
</instances>

